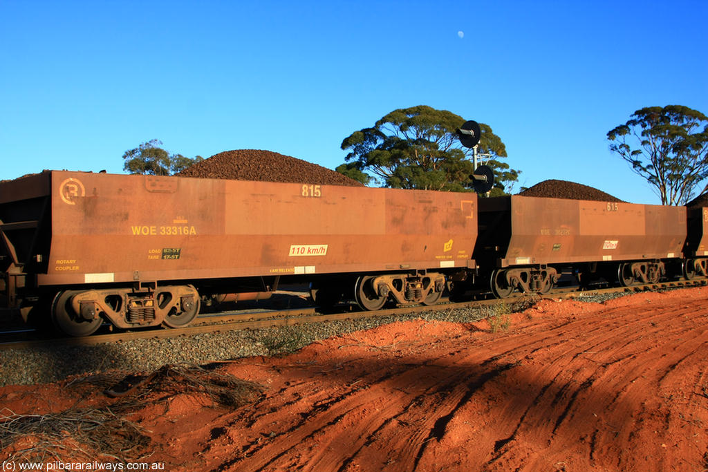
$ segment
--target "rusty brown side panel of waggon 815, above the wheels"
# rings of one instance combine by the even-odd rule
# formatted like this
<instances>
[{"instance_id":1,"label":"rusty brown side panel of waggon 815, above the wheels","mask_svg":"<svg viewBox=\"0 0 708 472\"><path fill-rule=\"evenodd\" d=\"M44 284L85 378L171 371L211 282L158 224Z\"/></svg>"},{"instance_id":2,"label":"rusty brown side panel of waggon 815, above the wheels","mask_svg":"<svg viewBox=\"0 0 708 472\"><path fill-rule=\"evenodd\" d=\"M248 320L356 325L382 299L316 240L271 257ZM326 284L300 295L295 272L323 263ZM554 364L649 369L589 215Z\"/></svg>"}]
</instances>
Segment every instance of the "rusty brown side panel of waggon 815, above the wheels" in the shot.
<instances>
[{"instance_id":1,"label":"rusty brown side panel of waggon 815, above the wheels","mask_svg":"<svg viewBox=\"0 0 708 472\"><path fill-rule=\"evenodd\" d=\"M472 265L474 194L46 174L51 245L40 285Z\"/></svg>"}]
</instances>

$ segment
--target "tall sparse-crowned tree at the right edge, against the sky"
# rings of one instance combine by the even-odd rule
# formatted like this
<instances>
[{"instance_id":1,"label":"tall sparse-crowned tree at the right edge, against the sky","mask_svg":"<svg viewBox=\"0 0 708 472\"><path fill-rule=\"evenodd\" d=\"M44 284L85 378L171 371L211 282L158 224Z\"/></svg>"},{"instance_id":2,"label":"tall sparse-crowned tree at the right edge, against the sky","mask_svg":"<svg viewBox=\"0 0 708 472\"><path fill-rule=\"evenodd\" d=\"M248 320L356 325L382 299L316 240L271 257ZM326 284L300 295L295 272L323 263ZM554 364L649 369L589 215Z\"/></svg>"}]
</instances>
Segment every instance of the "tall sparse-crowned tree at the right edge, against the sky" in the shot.
<instances>
[{"instance_id":1,"label":"tall sparse-crowned tree at the right edge, against the sky","mask_svg":"<svg viewBox=\"0 0 708 472\"><path fill-rule=\"evenodd\" d=\"M607 132L607 139L610 151L646 178L662 205L685 205L708 178L708 118L697 110L642 108ZM700 193L706 190L708 185Z\"/></svg>"}]
</instances>

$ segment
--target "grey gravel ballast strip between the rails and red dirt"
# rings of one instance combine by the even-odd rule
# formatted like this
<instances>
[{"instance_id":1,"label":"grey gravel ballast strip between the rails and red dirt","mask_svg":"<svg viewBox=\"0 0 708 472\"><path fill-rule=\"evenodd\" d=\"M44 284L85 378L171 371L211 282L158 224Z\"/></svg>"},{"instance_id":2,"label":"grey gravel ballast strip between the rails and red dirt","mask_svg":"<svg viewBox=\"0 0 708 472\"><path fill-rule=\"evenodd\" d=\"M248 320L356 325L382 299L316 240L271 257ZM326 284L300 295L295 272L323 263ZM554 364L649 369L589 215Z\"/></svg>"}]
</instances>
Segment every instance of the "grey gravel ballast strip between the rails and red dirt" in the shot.
<instances>
[{"instance_id":1,"label":"grey gravel ballast strip between the rails and red dirt","mask_svg":"<svg viewBox=\"0 0 708 472\"><path fill-rule=\"evenodd\" d=\"M519 305L525 309L532 302ZM99 345L47 345L0 351L0 386L42 384L59 381L67 376L99 372L147 372L165 364L207 364L240 357L270 356L292 352L316 340L375 328L394 321L426 319L466 323L479 321L495 313L510 311L501 308L441 309L428 313L379 316L348 321L325 321L282 328L233 330L176 338L138 339Z\"/></svg>"}]
</instances>

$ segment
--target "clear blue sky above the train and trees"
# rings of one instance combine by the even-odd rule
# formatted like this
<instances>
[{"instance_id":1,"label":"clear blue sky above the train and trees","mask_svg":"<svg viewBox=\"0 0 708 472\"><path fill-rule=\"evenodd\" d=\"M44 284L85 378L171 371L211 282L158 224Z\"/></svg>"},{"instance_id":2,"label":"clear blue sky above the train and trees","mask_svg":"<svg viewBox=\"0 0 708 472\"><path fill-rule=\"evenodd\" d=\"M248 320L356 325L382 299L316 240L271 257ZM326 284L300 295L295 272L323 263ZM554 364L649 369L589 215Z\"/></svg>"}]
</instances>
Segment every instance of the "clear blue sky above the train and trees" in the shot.
<instances>
[{"instance_id":1,"label":"clear blue sky above the train and trees","mask_svg":"<svg viewBox=\"0 0 708 472\"><path fill-rule=\"evenodd\" d=\"M707 23L707 0L0 0L0 179L122 173L149 139L335 168L353 131L430 105L490 125L519 185L658 204L605 134L708 113Z\"/></svg>"}]
</instances>

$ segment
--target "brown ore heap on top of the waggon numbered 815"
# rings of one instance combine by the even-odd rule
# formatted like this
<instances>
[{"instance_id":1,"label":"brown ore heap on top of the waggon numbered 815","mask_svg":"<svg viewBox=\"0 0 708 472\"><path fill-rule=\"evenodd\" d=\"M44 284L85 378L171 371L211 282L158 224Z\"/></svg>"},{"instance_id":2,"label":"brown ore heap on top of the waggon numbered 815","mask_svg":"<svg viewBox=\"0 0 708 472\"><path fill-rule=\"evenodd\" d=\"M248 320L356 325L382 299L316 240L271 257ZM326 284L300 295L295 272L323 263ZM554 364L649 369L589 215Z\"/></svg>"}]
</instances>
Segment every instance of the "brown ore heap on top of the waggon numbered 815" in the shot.
<instances>
[{"instance_id":1,"label":"brown ore heap on top of the waggon numbered 815","mask_svg":"<svg viewBox=\"0 0 708 472\"><path fill-rule=\"evenodd\" d=\"M195 163L177 175L181 177L260 180L265 182L309 183L319 185L362 186L317 164L273 151L235 149Z\"/></svg>"}]
</instances>

